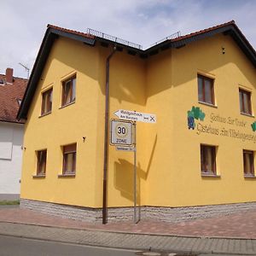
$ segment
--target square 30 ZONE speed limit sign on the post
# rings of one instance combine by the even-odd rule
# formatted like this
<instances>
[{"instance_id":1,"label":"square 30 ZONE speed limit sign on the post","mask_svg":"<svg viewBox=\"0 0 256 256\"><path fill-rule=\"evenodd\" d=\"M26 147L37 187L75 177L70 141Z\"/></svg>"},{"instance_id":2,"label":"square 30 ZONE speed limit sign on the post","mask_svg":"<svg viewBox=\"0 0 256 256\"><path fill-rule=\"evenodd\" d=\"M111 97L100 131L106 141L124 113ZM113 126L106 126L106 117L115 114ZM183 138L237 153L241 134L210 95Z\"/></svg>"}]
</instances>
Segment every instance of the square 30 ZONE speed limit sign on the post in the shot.
<instances>
[{"instance_id":1,"label":"square 30 ZONE speed limit sign on the post","mask_svg":"<svg viewBox=\"0 0 256 256\"><path fill-rule=\"evenodd\" d=\"M131 146L132 123L130 121L111 120L111 139L113 145Z\"/></svg>"}]
</instances>

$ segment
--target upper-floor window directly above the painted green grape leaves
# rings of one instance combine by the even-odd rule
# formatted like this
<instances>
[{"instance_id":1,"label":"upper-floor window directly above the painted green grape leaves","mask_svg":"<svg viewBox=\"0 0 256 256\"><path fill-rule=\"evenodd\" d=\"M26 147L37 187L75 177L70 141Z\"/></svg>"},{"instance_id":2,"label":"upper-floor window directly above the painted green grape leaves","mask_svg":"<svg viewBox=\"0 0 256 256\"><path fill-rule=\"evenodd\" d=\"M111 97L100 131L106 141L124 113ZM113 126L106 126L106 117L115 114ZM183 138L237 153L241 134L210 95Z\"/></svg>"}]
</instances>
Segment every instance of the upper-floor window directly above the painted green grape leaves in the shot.
<instances>
[{"instance_id":1,"label":"upper-floor window directly above the painted green grape leaves","mask_svg":"<svg viewBox=\"0 0 256 256\"><path fill-rule=\"evenodd\" d=\"M214 105L213 79L197 76L198 101Z\"/></svg>"}]
</instances>

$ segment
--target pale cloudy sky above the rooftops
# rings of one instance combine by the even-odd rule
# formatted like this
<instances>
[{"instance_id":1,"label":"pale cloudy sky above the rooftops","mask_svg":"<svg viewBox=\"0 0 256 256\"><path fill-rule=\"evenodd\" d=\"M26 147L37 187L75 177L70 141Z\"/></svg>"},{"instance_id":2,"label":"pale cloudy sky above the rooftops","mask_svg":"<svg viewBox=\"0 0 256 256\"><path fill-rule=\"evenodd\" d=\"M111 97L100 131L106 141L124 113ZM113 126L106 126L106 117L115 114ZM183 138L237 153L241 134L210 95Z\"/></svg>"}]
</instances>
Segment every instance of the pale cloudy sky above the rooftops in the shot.
<instances>
[{"instance_id":1,"label":"pale cloudy sky above the rooftops","mask_svg":"<svg viewBox=\"0 0 256 256\"><path fill-rule=\"evenodd\" d=\"M256 49L255 0L0 0L0 73L26 77L47 24L86 32L87 27L133 43L150 44L235 20Z\"/></svg>"}]
</instances>

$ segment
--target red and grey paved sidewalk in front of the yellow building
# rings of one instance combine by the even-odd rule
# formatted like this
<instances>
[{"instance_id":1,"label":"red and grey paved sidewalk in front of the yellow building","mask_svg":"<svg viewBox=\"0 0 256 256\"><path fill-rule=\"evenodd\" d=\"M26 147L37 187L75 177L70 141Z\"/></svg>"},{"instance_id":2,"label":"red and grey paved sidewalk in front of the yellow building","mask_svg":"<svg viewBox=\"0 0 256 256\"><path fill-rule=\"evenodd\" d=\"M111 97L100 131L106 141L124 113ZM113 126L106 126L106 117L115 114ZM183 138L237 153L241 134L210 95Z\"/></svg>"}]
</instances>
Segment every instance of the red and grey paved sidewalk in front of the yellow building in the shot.
<instances>
[{"instance_id":1,"label":"red and grey paved sidewalk in front of the yellow building","mask_svg":"<svg viewBox=\"0 0 256 256\"><path fill-rule=\"evenodd\" d=\"M89 224L19 207L0 207L0 235L101 247L256 255L256 211L179 224Z\"/></svg>"}]
</instances>

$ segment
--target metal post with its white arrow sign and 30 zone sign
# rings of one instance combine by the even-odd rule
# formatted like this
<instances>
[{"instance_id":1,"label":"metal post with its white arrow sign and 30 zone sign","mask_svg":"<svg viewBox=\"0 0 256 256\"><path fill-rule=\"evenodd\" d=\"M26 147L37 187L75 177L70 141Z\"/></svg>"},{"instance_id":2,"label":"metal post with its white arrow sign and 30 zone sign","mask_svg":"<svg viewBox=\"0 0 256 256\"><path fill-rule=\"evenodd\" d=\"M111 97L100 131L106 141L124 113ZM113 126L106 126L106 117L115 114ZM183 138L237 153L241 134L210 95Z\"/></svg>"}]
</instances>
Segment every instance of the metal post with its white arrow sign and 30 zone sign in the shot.
<instances>
[{"instance_id":1,"label":"metal post with its white arrow sign and 30 zone sign","mask_svg":"<svg viewBox=\"0 0 256 256\"><path fill-rule=\"evenodd\" d=\"M137 111L119 109L114 112L119 119L111 120L111 141L116 150L132 152L133 160L133 222L137 224L137 122L156 123L154 113L140 113ZM133 129L132 129L133 126ZM132 147L133 146L133 147Z\"/></svg>"}]
</instances>

